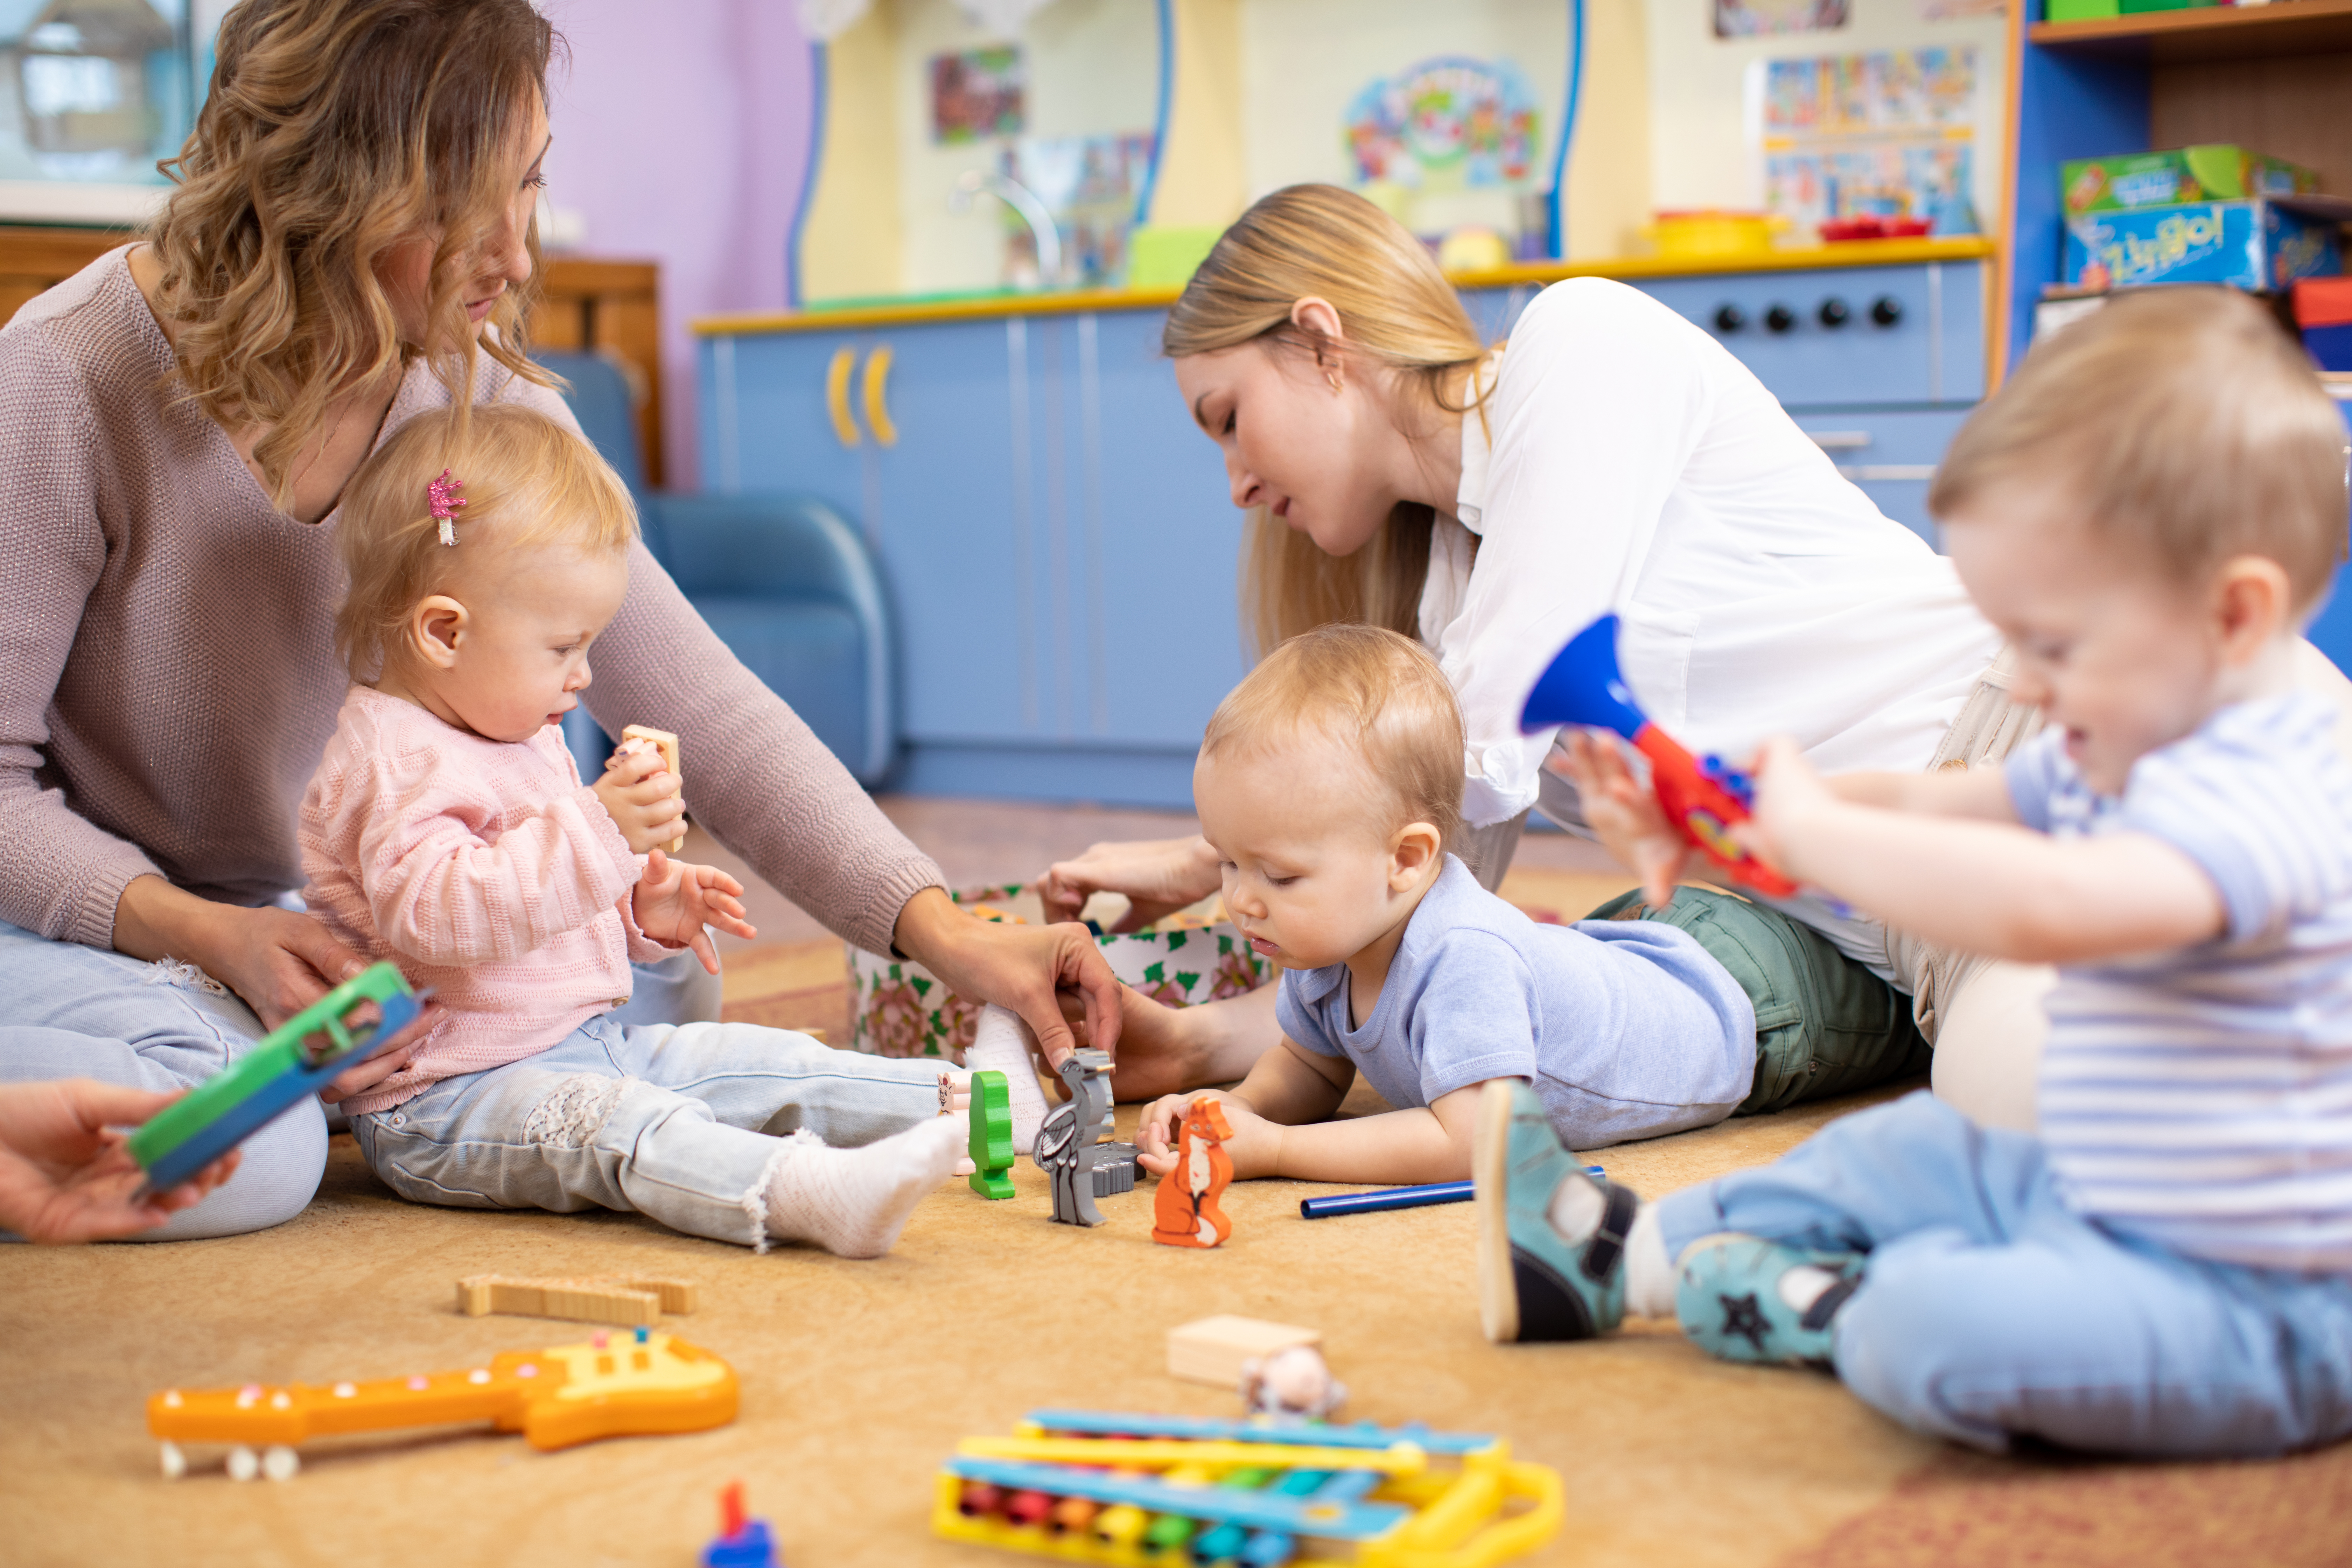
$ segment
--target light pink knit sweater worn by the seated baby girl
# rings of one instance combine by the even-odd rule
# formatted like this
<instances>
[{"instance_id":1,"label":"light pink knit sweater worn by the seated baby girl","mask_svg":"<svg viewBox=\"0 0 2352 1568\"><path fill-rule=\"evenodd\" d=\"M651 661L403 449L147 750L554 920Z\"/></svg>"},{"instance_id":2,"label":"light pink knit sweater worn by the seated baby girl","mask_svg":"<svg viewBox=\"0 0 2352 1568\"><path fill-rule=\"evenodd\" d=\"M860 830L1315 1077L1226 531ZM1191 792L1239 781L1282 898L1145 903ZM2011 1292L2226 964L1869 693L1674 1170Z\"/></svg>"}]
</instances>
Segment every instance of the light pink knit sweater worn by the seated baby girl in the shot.
<instances>
[{"instance_id":1,"label":"light pink knit sweater worn by the seated baby girl","mask_svg":"<svg viewBox=\"0 0 2352 1568\"><path fill-rule=\"evenodd\" d=\"M303 898L348 947L430 985L447 1016L350 1114L546 1051L628 1001L642 860L562 733L485 741L353 686L301 802Z\"/></svg>"}]
</instances>

